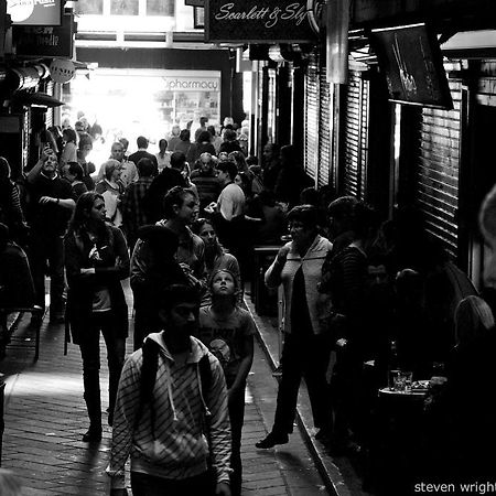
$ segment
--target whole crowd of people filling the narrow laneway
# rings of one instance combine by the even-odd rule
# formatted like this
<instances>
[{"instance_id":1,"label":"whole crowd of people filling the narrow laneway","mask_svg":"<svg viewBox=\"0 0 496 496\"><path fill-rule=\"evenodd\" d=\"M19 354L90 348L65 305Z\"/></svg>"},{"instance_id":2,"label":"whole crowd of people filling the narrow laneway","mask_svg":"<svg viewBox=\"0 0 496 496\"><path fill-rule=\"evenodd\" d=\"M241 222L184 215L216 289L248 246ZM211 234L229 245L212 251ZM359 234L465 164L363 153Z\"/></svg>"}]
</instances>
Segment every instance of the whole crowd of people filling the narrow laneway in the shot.
<instances>
[{"instance_id":1,"label":"whole crowd of people filling the narrow laneway","mask_svg":"<svg viewBox=\"0 0 496 496\"><path fill-rule=\"evenodd\" d=\"M50 278L50 323L65 322L80 348L85 442L101 440L100 333L105 338L112 495L126 494L129 457L136 496L240 494L256 332L242 294L254 246L280 246L288 231L265 274L268 287L283 288L283 348L273 427L256 446L289 442L304 378L315 438L334 454L374 453L374 393L387 385L393 349L395 366L413 380L434 376L425 429L432 460L450 475L485 470L482 459L474 463L479 445L471 433L494 435L495 412L486 403L484 414L468 411L464 388L467 377L479 386L488 376L493 313L417 211L385 220L355 197L333 197L315 187L290 144L266 144L259 163L231 123L219 140L202 119L194 142L190 129L174 127L157 154L139 137L128 157L120 140L98 170L87 161L89 133L66 128L58 144L46 136L22 187L0 158L0 256L23 267L29 290L10 306L32 308L33 326L41 325ZM489 242L492 194L481 215ZM14 263L0 267L3 291ZM134 352L126 359L127 278L136 313ZM483 388L471 405L477 395ZM438 441L453 435L460 443L449 443L445 463Z\"/></svg>"}]
</instances>

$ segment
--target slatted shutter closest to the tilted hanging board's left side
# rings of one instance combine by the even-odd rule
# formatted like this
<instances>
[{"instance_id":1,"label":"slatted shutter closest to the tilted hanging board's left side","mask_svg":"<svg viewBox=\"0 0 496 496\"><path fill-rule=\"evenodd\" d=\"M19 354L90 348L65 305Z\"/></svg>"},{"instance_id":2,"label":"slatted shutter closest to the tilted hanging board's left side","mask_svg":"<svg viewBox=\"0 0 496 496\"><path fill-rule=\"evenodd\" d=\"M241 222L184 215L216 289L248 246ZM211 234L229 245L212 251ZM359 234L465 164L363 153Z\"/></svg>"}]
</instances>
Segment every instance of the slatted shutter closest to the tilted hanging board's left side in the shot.
<instances>
[{"instance_id":1,"label":"slatted shutter closest to the tilted hanging board's left side","mask_svg":"<svg viewBox=\"0 0 496 496\"><path fill-rule=\"evenodd\" d=\"M345 195L364 200L368 151L369 83L358 71L349 71L344 121L344 170L341 190Z\"/></svg>"}]
</instances>

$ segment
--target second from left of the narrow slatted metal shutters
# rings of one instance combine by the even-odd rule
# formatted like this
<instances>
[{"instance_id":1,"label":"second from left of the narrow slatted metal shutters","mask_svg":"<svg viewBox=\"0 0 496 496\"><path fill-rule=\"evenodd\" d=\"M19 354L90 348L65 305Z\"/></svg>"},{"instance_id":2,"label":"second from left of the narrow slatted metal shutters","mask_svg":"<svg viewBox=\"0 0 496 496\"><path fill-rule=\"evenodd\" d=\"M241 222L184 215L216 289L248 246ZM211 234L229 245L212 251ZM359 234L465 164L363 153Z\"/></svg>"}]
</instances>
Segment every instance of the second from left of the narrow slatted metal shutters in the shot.
<instances>
[{"instance_id":1,"label":"second from left of the narrow slatted metal shutters","mask_svg":"<svg viewBox=\"0 0 496 496\"><path fill-rule=\"evenodd\" d=\"M325 66L321 67L320 76L320 116L319 116L319 176L317 185L328 184L331 169L331 91L326 82Z\"/></svg>"}]
</instances>

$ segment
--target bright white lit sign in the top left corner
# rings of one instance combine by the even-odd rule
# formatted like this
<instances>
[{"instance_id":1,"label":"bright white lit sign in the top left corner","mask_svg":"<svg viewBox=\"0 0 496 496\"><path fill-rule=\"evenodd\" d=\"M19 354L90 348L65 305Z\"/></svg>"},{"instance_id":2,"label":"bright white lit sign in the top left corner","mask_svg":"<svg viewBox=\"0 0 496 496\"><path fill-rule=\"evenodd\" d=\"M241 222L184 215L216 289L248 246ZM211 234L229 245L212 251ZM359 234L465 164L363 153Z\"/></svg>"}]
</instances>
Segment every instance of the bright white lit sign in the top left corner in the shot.
<instances>
[{"instance_id":1,"label":"bright white lit sign in the top left corner","mask_svg":"<svg viewBox=\"0 0 496 496\"><path fill-rule=\"evenodd\" d=\"M62 0L7 0L12 24L61 25Z\"/></svg>"}]
</instances>

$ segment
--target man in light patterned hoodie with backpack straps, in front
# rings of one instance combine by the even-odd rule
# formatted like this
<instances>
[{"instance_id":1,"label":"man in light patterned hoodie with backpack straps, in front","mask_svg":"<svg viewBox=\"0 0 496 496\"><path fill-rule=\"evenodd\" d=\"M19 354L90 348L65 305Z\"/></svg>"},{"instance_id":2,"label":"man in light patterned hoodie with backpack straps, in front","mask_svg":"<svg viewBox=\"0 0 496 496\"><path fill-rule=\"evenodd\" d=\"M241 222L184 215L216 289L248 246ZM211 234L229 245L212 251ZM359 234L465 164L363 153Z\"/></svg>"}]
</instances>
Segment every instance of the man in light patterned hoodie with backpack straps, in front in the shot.
<instances>
[{"instance_id":1,"label":"man in light patterned hoodie with backpack straps, in front","mask_svg":"<svg viewBox=\"0 0 496 496\"><path fill-rule=\"evenodd\" d=\"M159 311L162 331L126 360L107 467L111 496L127 495L129 456L134 496L230 496L226 382L217 358L192 336L198 310L194 289L166 288Z\"/></svg>"}]
</instances>

